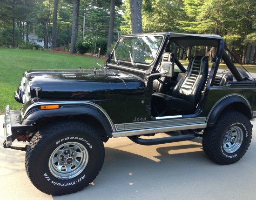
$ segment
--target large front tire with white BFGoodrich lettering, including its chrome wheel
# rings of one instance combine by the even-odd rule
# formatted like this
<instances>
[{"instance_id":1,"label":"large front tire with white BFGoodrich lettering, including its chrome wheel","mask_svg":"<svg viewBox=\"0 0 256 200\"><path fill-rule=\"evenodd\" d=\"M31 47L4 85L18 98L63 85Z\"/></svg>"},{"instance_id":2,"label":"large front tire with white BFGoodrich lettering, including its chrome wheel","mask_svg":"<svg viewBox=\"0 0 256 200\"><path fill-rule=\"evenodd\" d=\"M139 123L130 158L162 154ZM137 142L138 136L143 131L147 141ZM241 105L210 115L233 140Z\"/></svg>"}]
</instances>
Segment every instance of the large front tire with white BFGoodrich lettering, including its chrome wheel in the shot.
<instances>
[{"instance_id":1,"label":"large front tire with white BFGoodrich lettering, including its chrome wheel","mask_svg":"<svg viewBox=\"0 0 256 200\"><path fill-rule=\"evenodd\" d=\"M25 165L29 179L40 191L64 195L88 186L103 161L103 142L94 128L65 121L34 135L27 147Z\"/></svg>"}]
</instances>

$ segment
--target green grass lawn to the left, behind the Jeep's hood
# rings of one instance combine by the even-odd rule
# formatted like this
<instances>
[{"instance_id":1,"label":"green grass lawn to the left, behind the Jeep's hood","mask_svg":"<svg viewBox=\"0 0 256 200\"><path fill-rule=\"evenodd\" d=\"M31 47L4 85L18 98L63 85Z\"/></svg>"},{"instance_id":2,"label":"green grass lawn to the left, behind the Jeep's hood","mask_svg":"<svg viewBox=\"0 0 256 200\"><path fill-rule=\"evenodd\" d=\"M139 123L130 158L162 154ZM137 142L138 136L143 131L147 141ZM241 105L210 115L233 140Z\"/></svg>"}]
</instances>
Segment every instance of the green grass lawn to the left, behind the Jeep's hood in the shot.
<instances>
[{"instance_id":1,"label":"green grass lawn to the left, behind the Jeep's hood","mask_svg":"<svg viewBox=\"0 0 256 200\"><path fill-rule=\"evenodd\" d=\"M105 60L99 59L103 64ZM78 69L99 67L94 58L72 54L51 53L38 50L0 48L0 114L5 106L12 110L21 104L14 100L14 91L20 84L23 73L31 69Z\"/></svg>"}]
</instances>

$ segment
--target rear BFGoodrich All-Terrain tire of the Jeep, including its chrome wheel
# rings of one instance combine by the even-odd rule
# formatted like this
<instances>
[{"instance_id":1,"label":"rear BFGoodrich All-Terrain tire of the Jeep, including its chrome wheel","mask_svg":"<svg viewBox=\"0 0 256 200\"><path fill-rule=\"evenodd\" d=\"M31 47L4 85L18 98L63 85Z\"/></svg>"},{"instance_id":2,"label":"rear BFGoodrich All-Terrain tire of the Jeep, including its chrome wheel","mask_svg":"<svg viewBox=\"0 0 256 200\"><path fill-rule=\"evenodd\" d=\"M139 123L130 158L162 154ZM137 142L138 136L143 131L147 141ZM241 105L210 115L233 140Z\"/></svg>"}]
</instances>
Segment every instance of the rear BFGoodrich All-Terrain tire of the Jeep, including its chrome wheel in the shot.
<instances>
[{"instance_id":1,"label":"rear BFGoodrich All-Terrain tire of the Jeep, including its chrome wheel","mask_svg":"<svg viewBox=\"0 0 256 200\"><path fill-rule=\"evenodd\" d=\"M207 128L202 137L206 155L221 165L240 160L246 153L252 125L247 116L236 111L222 113L214 127Z\"/></svg>"}]
</instances>

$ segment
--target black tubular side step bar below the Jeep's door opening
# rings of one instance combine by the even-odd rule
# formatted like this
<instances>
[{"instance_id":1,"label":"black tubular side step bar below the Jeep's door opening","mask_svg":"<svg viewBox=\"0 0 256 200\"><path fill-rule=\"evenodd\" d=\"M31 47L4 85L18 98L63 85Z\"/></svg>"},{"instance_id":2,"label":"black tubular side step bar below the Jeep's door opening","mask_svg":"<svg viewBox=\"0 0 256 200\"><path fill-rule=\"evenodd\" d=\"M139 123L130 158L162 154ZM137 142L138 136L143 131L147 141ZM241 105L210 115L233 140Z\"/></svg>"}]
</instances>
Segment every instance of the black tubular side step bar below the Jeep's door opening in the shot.
<instances>
[{"instance_id":1,"label":"black tubular side step bar below the Jeep's door opening","mask_svg":"<svg viewBox=\"0 0 256 200\"><path fill-rule=\"evenodd\" d=\"M155 138L155 139L142 139L137 136L128 136L130 140L133 142L140 144L140 145L160 145L166 144L171 142L180 142L185 140L193 140L196 136L195 132L191 132L185 135L176 135L171 137L164 137L164 138Z\"/></svg>"}]
</instances>

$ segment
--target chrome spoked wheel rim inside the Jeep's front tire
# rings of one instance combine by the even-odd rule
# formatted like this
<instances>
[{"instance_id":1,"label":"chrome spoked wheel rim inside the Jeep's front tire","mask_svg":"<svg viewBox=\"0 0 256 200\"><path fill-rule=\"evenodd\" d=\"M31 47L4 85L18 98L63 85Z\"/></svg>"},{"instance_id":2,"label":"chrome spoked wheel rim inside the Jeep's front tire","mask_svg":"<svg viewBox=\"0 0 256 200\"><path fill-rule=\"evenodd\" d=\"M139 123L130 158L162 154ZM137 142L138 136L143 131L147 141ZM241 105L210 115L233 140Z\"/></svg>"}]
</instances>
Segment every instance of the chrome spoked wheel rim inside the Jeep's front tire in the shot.
<instances>
[{"instance_id":1,"label":"chrome spoked wheel rim inside the Jeep's front tire","mask_svg":"<svg viewBox=\"0 0 256 200\"><path fill-rule=\"evenodd\" d=\"M50 156L49 170L58 179L72 179L88 164L86 147L77 142L67 142L57 147Z\"/></svg>"}]
</instances>

